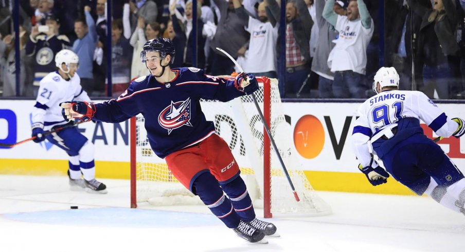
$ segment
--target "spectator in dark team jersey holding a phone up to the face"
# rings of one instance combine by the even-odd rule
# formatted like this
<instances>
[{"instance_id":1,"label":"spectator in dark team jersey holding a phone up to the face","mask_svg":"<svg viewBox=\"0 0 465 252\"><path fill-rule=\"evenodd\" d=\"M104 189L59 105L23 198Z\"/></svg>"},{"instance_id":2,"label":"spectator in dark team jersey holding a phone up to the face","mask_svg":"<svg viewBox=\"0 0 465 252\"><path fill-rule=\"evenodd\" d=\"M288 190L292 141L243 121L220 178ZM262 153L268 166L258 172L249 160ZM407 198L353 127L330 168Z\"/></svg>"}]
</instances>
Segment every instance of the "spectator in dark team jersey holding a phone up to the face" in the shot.
<instances>
[{"instance_id":1,"label":"spectator in dark team jersey holding a phone up to the face","mask_svg":"<svg viewBox=\"0 0 465 252\"><path fill-rule=\"evenodd\" d=\"M53 62L55 55L70 46L68 37L58 34L60 20L57 16L49 13L43 21L46 24L44 28L48 30L39 32L39 26L32 27L29 41L26 43L26 55L32 57L34 62L34 96L37 96L42 78L56 69Z\"/></svg>"}]
</instances>

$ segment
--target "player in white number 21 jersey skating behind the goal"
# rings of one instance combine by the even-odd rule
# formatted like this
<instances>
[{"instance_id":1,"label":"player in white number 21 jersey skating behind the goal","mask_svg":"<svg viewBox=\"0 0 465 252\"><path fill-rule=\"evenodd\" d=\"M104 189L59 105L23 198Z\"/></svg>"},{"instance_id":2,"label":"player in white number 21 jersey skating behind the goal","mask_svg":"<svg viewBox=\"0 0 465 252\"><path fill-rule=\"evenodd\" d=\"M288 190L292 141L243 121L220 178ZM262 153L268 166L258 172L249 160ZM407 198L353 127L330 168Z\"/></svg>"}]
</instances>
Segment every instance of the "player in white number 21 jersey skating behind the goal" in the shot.
<instances>
[{"instance_id":1,"label":"player in white number 21 jersey skating behind the goal","mask_svg":"<svg viewBox=\"0 0 465 252\"><path fill-rule=\"evenodd\" d=\"M32 110L32 136L34 142L45 138L69 155L69 185L71 190L106 193L106 186L95 179L94 145L76 127L70 127L44 136L43 132L67 123L61 115L60 103L89 101L76 73L79 58L71 50L61 50L55 56L57 71L40 81L39 93ZM84 179L81 178L81 173Z\"/></svg>"}]
</instances>

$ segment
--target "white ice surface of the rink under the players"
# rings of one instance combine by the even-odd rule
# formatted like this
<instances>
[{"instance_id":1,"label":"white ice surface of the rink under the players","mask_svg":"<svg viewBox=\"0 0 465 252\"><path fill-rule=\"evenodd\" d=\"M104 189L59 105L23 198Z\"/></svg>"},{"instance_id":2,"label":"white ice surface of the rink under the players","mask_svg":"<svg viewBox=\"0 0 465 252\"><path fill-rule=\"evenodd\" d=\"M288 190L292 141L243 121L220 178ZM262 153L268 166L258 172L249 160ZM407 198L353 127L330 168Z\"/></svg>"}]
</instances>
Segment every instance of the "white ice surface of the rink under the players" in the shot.
<instances>
[{"instance_id":1,"label":"white ice surface of the rink under the players","mask_svg":"<svg viewBox=\"0 0 465 252\"><path fill-rule=\"evenodd\" d=\"M0 175L0 251L465 251L465 216L428 197L319 192L332 214L272 219L281 237L250 244L204 206L130 209L129 181L101 180Z\"/></svg>"}]
</instances>

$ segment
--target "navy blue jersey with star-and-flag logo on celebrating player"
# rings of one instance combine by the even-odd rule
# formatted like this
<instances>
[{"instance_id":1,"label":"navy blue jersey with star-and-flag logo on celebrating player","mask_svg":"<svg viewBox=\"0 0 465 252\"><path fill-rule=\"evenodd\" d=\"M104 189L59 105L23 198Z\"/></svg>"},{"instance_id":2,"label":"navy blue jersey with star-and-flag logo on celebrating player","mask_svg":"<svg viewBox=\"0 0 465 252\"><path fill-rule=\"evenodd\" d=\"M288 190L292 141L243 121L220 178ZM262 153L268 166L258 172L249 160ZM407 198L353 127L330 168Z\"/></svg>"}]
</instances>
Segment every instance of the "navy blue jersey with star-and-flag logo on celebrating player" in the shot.
<instances>
[{"instance_id":1,"label":"navy blue jersey with star-and-flag logo on celebrating player","mask_svg":"<svg viewBox=\"0 0 465 252\"><path fill-rule=\"evenodd\" d=\"M152 75L134 80L118 99L95 104L93 119L121 122L141 113L152 150L165 158L214 133L214 124L205 119L200 99L229 101L245 95L236 89L234 79L208 76L194 67L172 71L176 77L167 83L157 82Z\"/></svg>"}]
</instances>

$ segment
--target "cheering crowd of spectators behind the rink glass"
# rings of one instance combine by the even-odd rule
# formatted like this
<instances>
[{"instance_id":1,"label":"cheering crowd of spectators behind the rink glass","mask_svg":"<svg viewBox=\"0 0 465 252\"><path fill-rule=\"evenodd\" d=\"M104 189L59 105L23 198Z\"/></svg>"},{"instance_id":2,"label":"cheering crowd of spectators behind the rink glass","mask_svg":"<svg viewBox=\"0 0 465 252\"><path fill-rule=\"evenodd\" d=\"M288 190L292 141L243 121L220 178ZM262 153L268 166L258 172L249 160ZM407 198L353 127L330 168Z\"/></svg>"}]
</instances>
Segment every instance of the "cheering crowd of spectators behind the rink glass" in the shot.
<instances>
[{"instance_id":1,"label":"cheering crowd of spectators behind the rink glass","mask_svg":"<svg viewBox=\"0 0 465 252\"><path fill-rule=\"evenodd\" d=\"M114 0L111 24L106 1L19 1L20 96L37 96L64 48L79 56L81 85L93 97L107 96L111 57L112 96L118 96L132 79L149 74L139 57L144 43L165 37L176 48L172 67L230 75L237 69L214 49L220 47L247 73L279 79L283 98L370 97L374 73L384 64L396 67L401 89L465 99L465 0L385 0L384 13L378 0L288 0L285 16L280 0L198 0L196 10L192 0ZM0 0L4 97L16 96L12 3Z\"/></svg>"}]
</instances>

